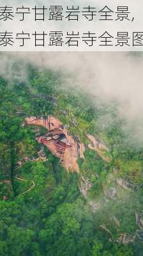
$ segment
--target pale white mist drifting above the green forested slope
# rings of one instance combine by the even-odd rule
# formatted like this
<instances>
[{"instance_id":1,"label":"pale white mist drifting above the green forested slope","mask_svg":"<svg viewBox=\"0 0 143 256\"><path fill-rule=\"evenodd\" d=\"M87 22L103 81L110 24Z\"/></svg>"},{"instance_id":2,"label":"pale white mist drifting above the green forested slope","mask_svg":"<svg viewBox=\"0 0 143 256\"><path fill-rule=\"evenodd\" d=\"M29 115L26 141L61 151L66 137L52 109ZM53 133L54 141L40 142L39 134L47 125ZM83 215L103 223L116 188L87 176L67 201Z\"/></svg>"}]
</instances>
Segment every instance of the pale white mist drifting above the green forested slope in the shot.
<instances>
[{"instance_id":1,"label":"pale white mist drifting above the green forested slope","mask_svg":"<svg viewBox=\"0 0 143 256\"><path fill-rule=\"evenodd\" d=\"M13 72L15 61L17 72ZM0 74L26 81L26 63L61 72L63 86L76 86L105 102L116 101L133 137L143 142L143 58L139 52L3 52Z\"/></svg>"}]
</instances>

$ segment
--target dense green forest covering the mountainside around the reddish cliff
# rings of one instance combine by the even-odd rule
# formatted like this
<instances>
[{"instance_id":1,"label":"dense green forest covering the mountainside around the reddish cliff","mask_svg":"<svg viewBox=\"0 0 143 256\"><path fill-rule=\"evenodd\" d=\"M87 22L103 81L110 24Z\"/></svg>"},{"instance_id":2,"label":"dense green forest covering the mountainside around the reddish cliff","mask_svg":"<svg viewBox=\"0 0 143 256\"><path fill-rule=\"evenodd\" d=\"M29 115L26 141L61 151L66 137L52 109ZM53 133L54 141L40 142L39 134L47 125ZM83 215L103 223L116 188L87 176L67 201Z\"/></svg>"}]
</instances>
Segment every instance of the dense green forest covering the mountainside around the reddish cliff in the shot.
<instances>
[{"instance_id":1,"label":"dense green forest covering the mountainside around the reddish cliff","mask_svg":"<svg viewBox=\"0 0 143 256\"><path fill-rule=\"evenodd\" d=\"M0 255L141 256L143 226L137 225L135 212L142 216L143 148L132 140L132 129L123 131L127 121L118 115L117 103L63 86L59 72L23 65L24 79L0 77ZM13 74L17 69L19 61ZM41 148L37 127L22 124L27 116L48 115L68 125L85 145L87 133L100 138L110 161L89 148L78 159L79 173L68 173L47 148L47 161L33 161ZM29 161L17 168L24 157ZM92 184L86 196L81 177ZM115 189L115 198L105 195ZM120 243L121 234L135 236L133 243Z\"/></svg>"}]
</instances>

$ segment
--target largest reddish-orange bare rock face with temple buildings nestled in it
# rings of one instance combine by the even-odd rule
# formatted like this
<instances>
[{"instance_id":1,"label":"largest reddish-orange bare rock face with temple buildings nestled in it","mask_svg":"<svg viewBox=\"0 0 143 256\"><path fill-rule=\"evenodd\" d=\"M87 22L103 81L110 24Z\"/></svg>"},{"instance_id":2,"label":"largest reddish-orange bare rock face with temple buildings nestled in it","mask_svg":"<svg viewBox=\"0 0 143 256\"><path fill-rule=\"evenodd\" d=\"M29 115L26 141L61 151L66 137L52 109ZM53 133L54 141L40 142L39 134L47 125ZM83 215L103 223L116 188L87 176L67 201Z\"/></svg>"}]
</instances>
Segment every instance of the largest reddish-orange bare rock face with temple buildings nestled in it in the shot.
<instances>
[{"instance_id":1,"label":"largest reddish-orange bare rock face with temple buildings nestled in it","mask_svg":"<svg viewBox=\"0 0 143 256\"><path fill-rule=\"evenodd\" d=\"M77 159L84 157L85 147L83 143L79 143L76 137L70 136L66 126L53 116L48 116L46 119L31 116L26 118L26 123L45 127L49 132L45 136L36 136L36 140L43 143L52 154L59 157L66 170L79 172Z\"/></svg>"}]
</instances>

